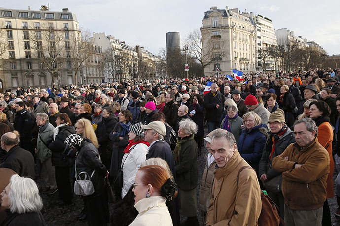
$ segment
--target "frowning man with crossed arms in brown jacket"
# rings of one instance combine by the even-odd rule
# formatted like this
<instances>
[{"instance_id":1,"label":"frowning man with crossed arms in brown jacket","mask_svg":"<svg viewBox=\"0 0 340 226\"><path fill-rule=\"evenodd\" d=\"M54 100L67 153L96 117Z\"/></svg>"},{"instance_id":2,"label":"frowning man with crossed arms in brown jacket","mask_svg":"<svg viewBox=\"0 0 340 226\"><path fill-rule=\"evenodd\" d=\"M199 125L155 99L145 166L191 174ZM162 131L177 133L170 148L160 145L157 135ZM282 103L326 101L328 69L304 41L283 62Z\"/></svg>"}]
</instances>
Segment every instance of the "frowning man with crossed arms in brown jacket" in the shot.
<instances>
[{"instance_id":1,"label":"frowning man with crossed arms in brown jacket","mask_svg":"<svg viewBox=\"0 0 340 226\"><path fill-rule=\"evenodd\" d=\"M282 172L284 221L287 226L321 226L329 154L317 140L318 128L310 118L294 123L296 143L272 161Z\"/></svg>"}]
</instances>

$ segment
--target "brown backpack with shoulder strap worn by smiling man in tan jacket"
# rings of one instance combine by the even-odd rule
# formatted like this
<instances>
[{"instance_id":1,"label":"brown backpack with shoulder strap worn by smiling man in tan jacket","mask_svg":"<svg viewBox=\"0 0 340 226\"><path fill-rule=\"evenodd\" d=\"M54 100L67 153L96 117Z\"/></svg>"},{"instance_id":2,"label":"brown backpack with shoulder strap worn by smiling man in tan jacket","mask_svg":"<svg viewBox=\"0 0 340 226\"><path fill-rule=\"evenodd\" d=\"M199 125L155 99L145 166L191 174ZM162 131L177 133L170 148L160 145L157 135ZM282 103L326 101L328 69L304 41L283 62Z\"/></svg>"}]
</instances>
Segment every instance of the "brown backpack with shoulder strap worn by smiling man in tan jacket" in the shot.
<instances>
[{"instance_id":1,"label":"brown backpack with shoulder strap worn by smiling man in tan jacket","mask_svg":"<svg viewBox=\"0 0 340 226\"><path fill-rule=\"evenodd\" d=\"M244 166L238 171L238 176L237 176L237 184L238 184L238 179L239 179L239 174L240 172L245 169L253 169L249 166ZM253 169L255 171L255 169ZM272 199L263 193L261 191L261 214L259 216L259 219L257 220L257 225L258 226L279 226L280 222L282 225L285 225L284 221L278 214L278 207L277 205L272 201Z\"/></svg>"}]
</instances>

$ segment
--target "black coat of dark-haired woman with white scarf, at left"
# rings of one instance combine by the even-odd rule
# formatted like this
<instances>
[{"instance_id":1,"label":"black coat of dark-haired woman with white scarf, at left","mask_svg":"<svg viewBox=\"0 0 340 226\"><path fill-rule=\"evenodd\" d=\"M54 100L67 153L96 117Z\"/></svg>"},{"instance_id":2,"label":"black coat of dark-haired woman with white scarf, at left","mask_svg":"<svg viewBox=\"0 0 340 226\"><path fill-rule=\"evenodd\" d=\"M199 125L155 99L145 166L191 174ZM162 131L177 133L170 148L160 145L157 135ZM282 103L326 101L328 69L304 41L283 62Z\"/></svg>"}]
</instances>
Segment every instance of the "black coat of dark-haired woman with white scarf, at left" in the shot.
<instances>
[{"instance_id":1,"label":"black coat of dark-haired woman with white scarf, at left","mask_svg":"<svg viewBox=\"0 0 340 226\"><path fill-rule=\"evenodd\" d=\"M67 167L67 163L62 161L62 154L66 147L64 144L68 135L75 134L75 128L71 125L65 125L59 128L56 139L53 139L53 134L47 139L48 149L52 151L52 165L59 167Z\"/></svg>"}]
</instances>

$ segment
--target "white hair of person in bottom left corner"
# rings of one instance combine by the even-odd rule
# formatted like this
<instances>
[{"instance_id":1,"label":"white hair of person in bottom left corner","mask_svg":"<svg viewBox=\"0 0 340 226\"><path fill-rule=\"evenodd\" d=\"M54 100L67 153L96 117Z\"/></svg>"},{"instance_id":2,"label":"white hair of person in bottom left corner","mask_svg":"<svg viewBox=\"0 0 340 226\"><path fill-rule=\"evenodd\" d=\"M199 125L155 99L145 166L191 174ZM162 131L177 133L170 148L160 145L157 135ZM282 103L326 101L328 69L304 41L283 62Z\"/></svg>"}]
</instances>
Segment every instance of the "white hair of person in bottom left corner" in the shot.
<instances>
[{"instance_id":1,"label":"white hair of person in bottom left corner","mask_svg":"<svg viewBox=\"0 0 340 226\"><path fill-rule=\"evenodd\" d=\"M32 213L42 209L42 199L34 180L15 174L10 179L9 209L12 213Z\"/></svg>"}]
</instances>

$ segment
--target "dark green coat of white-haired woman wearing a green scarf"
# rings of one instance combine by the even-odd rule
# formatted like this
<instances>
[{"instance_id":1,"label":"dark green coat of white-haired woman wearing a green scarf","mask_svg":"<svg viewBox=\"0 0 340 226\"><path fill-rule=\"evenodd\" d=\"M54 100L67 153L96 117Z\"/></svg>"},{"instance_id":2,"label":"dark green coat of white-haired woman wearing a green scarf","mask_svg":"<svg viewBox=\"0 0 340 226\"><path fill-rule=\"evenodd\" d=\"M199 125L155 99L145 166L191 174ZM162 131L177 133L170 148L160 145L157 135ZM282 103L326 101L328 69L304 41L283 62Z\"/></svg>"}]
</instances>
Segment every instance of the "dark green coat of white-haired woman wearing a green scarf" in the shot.
<instances>
[{"instance_id":1,"label":"dark green coat of white-haired woman wearing a green scarf","mask_svg":"<svg viewBox=\"0 0 340 226\"><path fill-rule=\"evenodd\" d=\"M190 137L186 137L183 140L185 141L181 143L180 152L178 155L178 159L175 158L175 169L177 175L177 185L182 190L192 190L197 187L198 182L198 166L197 166L197 155L198 155L198 147L194 139L190 139L194 135ZM178 147L177 146L175 150ZM175 154L176 155L176 154Z\"/></svg>"}]
</instances>

